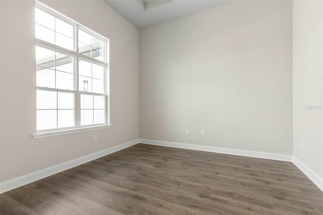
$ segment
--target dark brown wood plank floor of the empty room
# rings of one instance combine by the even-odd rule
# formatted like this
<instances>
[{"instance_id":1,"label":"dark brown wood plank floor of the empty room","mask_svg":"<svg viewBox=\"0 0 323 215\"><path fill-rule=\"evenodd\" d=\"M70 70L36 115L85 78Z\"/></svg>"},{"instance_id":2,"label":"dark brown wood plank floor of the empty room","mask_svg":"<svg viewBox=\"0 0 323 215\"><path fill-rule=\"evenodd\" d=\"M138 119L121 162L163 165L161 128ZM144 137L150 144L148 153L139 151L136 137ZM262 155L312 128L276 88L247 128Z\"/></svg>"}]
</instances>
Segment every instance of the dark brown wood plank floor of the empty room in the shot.
<instances>
[{"instance_id":1,"label":"dark brown wood plank floor of the empty room","mask_svg":"<svg viewBox=\"0 0 323 215\"><path fill-rule=\"evenodd\" d=\"M3 193L1 214L323 214L290 162L137 144Z\"/></svg>"}]
</instances>

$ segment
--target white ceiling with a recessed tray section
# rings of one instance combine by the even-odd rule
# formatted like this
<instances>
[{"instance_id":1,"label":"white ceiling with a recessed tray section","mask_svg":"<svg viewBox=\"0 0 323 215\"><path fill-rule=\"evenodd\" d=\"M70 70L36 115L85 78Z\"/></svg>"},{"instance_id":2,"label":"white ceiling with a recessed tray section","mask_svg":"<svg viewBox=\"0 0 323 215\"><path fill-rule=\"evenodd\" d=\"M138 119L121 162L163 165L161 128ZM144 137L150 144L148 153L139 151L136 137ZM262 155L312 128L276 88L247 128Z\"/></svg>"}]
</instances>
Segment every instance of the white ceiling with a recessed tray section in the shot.
<instances>
[{"instance_id":1,"label":"white ceiling with a recessed tray section","mask_svg":"<svg viewBox=\"0 0 323 215\"><path fill-rule=\"evenodd\" d=\"M227 0L104 1L139 29L229 2Z\"/></svg>"}]
</instances>

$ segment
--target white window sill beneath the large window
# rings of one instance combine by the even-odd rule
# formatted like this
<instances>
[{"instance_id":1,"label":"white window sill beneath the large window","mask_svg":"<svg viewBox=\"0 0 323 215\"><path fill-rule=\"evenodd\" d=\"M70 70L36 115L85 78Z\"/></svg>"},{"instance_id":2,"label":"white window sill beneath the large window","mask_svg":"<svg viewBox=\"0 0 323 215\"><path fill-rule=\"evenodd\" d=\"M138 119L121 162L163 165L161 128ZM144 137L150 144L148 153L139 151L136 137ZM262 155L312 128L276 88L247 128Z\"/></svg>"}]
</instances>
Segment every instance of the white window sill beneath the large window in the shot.
<instances>
[{"instance_id":1,"label":"white window sill beneath the large window","mask_svg":"<svg viewBox=\"0 0 323 215\"><path fill-rule=\"evenodd\" d=\"M99 125L99 126L92 126L92 127L84 127L84 128L74 128L74 129L68 129L68 130L62 130L62 131L49 131L49 132L42 132L33 134L34 139L44 138L44 137L53 137L53 136L59 136L59 135L65 135L65 134L74 134L84 131L92 131L97 129L103 129L103 128L111 128L112 125Z\"/></svg>"}]
</instances>

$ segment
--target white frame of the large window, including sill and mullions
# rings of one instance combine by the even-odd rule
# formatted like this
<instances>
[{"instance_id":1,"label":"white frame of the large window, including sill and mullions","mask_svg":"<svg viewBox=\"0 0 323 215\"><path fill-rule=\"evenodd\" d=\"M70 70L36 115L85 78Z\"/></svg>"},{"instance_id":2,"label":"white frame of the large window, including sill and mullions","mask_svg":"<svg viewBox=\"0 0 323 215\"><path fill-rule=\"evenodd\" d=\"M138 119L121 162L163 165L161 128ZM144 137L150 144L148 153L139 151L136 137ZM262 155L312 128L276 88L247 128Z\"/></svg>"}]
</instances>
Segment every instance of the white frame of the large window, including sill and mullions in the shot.
<instances>
[{"instance_id":1,"label":"white frame of the large window, including sill and mullions","mask_svg":"<svg viewBox=\"0 0 323 215\"><path fill-rule=\"evenodd\" d=\"M69 50L67 48L64 48L62 46L52 44L50 42L38 39L35 37L36 40L36 46L40 46L43 48L50 49L52 51L58 51L61 53L64 53L64 55L73 57L74 59L74 90L67 90L67 89L58 89L58 88L48 88L48 87L40 87L36 86L36 90L49 90L49 91L56 91L56 92L73 92L74 93L74 114L75 114L75 126L74 127L68 127L68 128L55 128L55 129L47 129L47 130L37 130L36 134L33 134L33 138L43 138L43 137L50 137L50 136L58 136L58 135L64 135L64 134L72 134L72 133L78 133L78 132L84 132L84 131L91 131L96 129L103 129L103 128L110 128L112 127L112 124L110 124L110 90L109 90L109 39L92 31L91 29L83 26L82 24L66 17L65 15L49 8L45 4L42 4L38 1L36 1L35 8L38 8L40 10L45 11L46 13L51 14L52 16L59 18L71 25L74 26L74 50ZM91 57L88 57L86 55L83 55L82 53L79 53L78 49L78 30L82 29L83 31L86 31L100 39L104 40L104 51L103 51L103 59L105 61L100 61ZM104 67L104 93L94 93L94 92L84 92L79 90L79 59L85 60L86 62L97 64ZM36 61L35 61L36 63ZM91 125L83 125L81 126L81 94L90 94L90 95L100 95L105 97L105 119L104 123L101 124L91 124ZM93 107L94 109L94 107ZM58 117L58 116L57 116Z\"/></svg>"}]
</instances>

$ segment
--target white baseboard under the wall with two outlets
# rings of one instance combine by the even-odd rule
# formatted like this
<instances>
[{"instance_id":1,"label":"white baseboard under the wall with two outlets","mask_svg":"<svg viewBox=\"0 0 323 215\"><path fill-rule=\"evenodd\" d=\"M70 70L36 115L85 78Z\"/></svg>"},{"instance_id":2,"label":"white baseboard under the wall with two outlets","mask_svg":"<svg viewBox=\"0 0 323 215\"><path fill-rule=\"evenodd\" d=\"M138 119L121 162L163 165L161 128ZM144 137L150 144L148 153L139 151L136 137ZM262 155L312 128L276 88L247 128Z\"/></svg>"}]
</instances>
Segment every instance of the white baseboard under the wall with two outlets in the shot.
<instances>
[{"instance_id":1,"label":"white baseboard under the wall with two outlets","mask_svg":"<svg viewBox=\"0 0 323 215\"><path fill-rule=\"evenodd\" d=\"M287 162L292 162L293 156L291 154L278 154L278 153L270 153L270 152L262 152L262 151L250 151L250 150L242 150L242 149L233 149L233 148L222 148L215 146L206 146L206 145L195 145L188 143L177 143L177 142L166 142L159 140L148 140L148 139L139 139L140 143L147 143L151 145L160 145L160 146L168 146L174 148L185 148L199 151L209 151L223 154L233 154L247 157L258 157L265 159L273 159L273 160L282 160Z\"/></svg>"}]
</instances>

